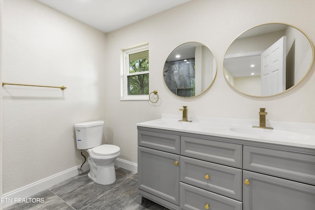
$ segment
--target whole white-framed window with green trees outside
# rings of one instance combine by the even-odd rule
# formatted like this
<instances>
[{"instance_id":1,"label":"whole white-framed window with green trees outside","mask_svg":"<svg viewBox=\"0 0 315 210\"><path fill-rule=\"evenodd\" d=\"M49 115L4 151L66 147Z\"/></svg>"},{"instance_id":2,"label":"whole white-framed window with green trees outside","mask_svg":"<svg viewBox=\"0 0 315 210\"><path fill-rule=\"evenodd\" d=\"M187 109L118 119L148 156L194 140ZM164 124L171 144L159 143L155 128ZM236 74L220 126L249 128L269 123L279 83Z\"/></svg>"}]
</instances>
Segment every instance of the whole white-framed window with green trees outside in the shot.
<instances>
[{"instance_id":1,"label":"whole white-framed window with green trees outside","mask_svg":"<svg viewBox=\"0 0 315 210\"><path fill-rule=\"evenodd\" d=\"M123 51L121 100L148 100L149 45Z\"/></svg>"}]
</instances>

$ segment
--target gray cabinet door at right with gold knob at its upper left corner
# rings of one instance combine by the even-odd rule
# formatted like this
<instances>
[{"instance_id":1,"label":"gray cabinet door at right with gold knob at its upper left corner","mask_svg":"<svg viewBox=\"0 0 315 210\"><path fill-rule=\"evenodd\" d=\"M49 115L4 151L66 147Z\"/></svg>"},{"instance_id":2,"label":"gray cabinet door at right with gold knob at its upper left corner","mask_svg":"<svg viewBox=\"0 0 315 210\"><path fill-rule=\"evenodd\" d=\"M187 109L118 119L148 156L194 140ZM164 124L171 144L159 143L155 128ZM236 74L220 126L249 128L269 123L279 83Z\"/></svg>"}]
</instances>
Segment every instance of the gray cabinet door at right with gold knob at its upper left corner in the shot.
<instances>
[{"instance_id":1,"label":"gray cabinet door at right with gold knob at its upper left corner","mask_svg":"<svg viewBox=\"0 0 315 210\"><path fill-rule=\"evenodd\" d=\"M244 210L314 210L315 186L243 171Z\"/></svg>"}]
</instances>

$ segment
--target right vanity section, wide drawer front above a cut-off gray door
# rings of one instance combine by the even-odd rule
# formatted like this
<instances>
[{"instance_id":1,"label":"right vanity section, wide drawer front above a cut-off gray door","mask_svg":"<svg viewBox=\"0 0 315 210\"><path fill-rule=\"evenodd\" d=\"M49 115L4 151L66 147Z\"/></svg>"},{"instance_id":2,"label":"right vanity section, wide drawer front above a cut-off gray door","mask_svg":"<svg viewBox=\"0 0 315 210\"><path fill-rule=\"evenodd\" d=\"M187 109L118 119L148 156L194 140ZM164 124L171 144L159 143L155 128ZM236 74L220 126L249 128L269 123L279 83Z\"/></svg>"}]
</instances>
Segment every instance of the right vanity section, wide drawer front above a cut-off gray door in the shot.
<instances>
[{"instance_id":1,"label":"right vanity section, wide drawer front above a cut-off gray door","mask_svg":"<svg viewBox=\"0 0 315 210\"><path fill-rule=\"evenodd\" d=\"M244 210L314 210L315 156L244 146Z\"/></svg>"}]
</instances>

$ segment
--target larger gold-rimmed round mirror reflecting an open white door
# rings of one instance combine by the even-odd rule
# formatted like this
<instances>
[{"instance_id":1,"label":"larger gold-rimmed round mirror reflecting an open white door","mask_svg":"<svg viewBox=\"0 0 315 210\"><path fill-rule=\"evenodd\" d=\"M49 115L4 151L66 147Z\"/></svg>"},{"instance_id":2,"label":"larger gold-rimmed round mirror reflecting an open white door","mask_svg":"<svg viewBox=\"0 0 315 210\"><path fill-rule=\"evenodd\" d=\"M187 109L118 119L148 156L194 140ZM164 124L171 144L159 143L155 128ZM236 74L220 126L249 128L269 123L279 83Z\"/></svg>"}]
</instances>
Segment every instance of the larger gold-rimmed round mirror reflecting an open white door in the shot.
<instances>
[{"instance_id":1,"label":"larger gold-rimmed round mirror reflecting an open white door","mask_svg":"<svg viewBox=\"0 0 315 210\"><path fill-rule=\"evenodd\" d=\"M235 90L271 96L293 88L311 69L311 40L295 27L265 24L239 35L224 57L224 76Z\"/></svg>"}]
</instances>

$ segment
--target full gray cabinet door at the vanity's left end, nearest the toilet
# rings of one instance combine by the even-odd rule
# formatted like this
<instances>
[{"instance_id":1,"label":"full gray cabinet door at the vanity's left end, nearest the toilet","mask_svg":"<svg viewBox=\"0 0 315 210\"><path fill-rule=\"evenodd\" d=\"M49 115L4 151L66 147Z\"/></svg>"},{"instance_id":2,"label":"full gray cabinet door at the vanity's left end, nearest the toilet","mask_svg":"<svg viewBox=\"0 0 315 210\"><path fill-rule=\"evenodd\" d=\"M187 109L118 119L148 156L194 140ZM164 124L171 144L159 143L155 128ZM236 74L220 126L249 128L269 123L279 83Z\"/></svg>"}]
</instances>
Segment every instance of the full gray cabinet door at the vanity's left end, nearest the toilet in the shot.
<instances>
[{"instance_id":1,"label":"full gray cabinet door at the vanity's left end, nearest the toilet","mask_svg":"<svg viewBox=\"0 0 315 210\"><path fill-rule=\"evenodd\" d=\"M138 147L138 188L179 205L179 155Z\"/></svg>"}]
</instances>

